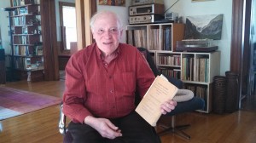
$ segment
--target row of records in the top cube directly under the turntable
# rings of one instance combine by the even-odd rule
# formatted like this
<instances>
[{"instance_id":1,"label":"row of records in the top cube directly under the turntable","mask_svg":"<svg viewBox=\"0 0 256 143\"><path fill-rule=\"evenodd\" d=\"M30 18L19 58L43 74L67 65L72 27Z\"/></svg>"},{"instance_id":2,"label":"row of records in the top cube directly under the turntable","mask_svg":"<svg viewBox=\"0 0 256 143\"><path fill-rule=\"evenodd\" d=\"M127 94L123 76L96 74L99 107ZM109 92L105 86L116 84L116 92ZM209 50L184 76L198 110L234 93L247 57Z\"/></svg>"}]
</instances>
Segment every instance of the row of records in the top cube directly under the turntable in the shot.
<instances>
[{"instance_id":1,"label":"row of records in the top cube directly under the turntable","mask_svg":"<svg viewBox=\"0 0 256 143\"><path fill-rule=\"evenodd\" d=\"M207 83L209 82L209 58L184 57L182 71L183 80Z\"/></svg>"}]
</instances>

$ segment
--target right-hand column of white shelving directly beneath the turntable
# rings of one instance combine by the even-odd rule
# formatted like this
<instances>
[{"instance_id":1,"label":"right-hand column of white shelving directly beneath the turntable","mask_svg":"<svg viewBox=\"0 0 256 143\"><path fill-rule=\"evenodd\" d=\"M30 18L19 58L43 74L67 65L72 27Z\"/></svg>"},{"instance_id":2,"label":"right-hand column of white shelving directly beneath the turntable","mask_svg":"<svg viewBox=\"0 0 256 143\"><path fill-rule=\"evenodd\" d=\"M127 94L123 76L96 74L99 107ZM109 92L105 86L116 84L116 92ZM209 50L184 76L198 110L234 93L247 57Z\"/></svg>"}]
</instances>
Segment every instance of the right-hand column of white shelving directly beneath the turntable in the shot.
<instances>
[{"instance_id":1,"label":"right-hand column of white shelving directly beneath the turntable","mask_svg":"<svg viewBox=\"0 0 256 143\"><path fill-rule=\"evenodd\" d=\"M200 112L212 111L213 77L219 75L220 52L185 53L181 52L181 80L184 89L192 90L205 100L205 108Z\"/></svg>"}]
</instances>

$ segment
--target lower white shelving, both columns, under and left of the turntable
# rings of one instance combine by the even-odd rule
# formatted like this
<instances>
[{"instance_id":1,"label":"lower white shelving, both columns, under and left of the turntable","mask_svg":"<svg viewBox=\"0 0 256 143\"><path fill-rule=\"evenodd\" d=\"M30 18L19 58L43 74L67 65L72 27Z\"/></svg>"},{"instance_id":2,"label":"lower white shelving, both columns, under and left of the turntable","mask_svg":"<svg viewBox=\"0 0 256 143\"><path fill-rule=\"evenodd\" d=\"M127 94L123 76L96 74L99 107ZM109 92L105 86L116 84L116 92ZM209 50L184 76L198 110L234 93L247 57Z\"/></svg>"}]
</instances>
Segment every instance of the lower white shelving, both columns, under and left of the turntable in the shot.
<instances>
[{"instance_id":1,"label":"lower white shelving, both columns, under and left of the turntable","mask_svg":"<svg viewBox=\"0 0 256 143\"><path fill-rule=\"evenodd\" d=\"M183 88L192 90L206 101L199 112L212 111L213 77L219 75L220 52L156 52L156 66L161 73L183 81Z\"/></svg>"}]
</instances>

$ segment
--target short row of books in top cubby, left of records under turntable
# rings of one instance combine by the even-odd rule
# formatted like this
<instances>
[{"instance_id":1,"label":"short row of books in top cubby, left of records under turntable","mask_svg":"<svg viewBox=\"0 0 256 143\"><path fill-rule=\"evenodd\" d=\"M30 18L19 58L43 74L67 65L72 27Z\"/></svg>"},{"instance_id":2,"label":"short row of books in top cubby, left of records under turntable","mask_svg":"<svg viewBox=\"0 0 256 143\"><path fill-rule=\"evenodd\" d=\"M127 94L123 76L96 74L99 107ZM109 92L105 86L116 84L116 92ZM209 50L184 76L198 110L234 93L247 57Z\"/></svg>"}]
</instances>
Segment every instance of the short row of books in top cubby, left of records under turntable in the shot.
<instances>
[{"instance_id":1,"label":"short row of books in top cubby, left of records under turntable","mask_svg":"<svg viewBox=\"0 0 256 143\"><path fill-rule=\"evenodd\" d=\"M158 62L159 65L180 66L180 55L160 55Z\"/></svg>"}]
</instances>

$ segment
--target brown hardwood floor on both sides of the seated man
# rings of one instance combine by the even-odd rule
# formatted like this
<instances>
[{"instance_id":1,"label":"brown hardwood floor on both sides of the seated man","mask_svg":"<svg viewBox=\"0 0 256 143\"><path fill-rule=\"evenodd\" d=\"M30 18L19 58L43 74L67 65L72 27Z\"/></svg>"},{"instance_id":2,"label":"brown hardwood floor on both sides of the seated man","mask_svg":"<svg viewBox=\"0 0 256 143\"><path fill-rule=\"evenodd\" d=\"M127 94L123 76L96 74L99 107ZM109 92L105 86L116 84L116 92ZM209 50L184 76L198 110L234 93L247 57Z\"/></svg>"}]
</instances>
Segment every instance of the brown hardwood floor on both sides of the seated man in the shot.
<instances>
[{"instance_id":1,"label":"brown hardwood floor on both sides of the seated man","mask_svg":"<svg viewBox=\"0 0 256 143\"><path fill-rule=\"evenodd\" d=\"M27 83L26 81L2 85L15 89L24 89L40 94L61 97L64 81ZM255 97L255 96L254 96ZM190 140L172 133L162 135L163 143L255 143L256 110L255 98L250 108L230 114L218 115L192 112L177 116L177 123L189 123L184 129L191 135ZM27 113L0 121L0 143L61 143L62 136L58 131L59 106L51 106L37 112ZM166 118L162 121L166 122Z\"/></svg>"}]
</instances>

